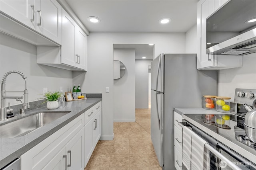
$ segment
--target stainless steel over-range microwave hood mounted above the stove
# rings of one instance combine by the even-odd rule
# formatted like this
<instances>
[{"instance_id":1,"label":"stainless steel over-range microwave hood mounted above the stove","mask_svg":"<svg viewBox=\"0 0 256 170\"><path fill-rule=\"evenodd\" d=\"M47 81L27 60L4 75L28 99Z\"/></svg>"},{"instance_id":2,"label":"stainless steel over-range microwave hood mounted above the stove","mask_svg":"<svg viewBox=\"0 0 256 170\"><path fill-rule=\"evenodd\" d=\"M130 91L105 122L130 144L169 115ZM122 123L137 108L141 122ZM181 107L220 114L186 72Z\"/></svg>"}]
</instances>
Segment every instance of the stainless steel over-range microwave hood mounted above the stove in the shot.
<instances>
[{"instance_id":1,"label":"stainless steel over-range microwave hood mounted above the stove","mask_svg":"<svg viewBox=\"0 0 256 170\"><path fill-rule=\"evenodd\" d=\"M247 55L256 52L256 0L230 0L206 20L206 53Z\"/></svg>"}]
</instances>

